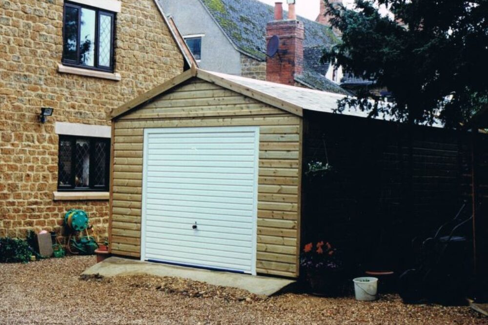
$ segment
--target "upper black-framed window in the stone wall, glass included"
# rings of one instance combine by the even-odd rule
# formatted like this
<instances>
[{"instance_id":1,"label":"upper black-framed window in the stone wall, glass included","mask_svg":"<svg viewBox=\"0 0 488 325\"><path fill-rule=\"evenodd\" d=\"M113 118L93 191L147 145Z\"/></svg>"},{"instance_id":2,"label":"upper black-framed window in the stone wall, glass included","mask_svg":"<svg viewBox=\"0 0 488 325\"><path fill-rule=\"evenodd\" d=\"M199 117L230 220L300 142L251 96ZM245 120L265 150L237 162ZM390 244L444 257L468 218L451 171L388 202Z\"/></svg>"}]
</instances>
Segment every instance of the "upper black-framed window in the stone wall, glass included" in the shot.
<instances>
[{"instance_id":1,"label":"upper black-framed window in the stone wall, glass included","mask_svg":"<svg viewBox=\"0 0 488 325\"><path fill-rule=\"evenodd\" d=\"M113 72L115 14L64 3L62 63Z\"/></svg>"}]
</instances>

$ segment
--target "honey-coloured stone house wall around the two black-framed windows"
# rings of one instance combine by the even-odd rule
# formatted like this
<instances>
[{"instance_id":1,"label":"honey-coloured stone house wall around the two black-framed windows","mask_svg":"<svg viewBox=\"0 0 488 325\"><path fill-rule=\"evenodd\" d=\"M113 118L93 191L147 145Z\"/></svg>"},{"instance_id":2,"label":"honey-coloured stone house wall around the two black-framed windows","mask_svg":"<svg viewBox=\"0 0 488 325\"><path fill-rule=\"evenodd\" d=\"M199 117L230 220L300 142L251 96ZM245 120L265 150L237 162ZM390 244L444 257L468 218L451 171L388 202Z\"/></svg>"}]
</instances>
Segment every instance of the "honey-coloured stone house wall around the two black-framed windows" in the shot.
<instances>
[{"instance_id":1,"label":"honey-coloured stone house wall around the two black-framed windows","mask_svg":"<svg viewBox=\"0 0 488 325\"><path fill-rule=\"evenodd\" d=\"M153 0L122 0L116 17L120 81L58 72L62 0L0 1L0 237L27 230L62 233L67 210L88 212L99 239L108 200L54 201L58 183L55 122L110 125L112 108L183 72L183 56ZM54 108L42 124L41 107Z\"/></svg>"}]
</instances>

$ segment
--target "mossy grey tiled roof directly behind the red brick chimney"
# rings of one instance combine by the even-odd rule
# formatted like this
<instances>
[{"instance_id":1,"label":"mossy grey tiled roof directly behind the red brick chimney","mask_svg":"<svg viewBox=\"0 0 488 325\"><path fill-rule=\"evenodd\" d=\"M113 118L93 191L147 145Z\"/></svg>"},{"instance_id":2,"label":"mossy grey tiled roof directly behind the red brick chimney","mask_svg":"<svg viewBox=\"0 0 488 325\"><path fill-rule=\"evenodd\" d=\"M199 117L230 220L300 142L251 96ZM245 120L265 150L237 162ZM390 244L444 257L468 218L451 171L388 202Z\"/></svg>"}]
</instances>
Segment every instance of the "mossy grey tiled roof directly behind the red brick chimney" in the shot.
<instances>
[{"instance_id":1,"label":"mossy grey tiled roof directly behind the red brick chimney","mask_svg":"<svg viewBox=\"0 0 488 325\"><path fill-rule=\"evenodd\" d=\"M266 49L266 24L274 20L272 6L258 0L200 1L238 51L260 61L266 60L261 51ZM284 17L287 17L286 11ZM329 47L338 41L330 27L300 16L297 19L305 27L304 48Z\"/></svg>"}]
</instances>

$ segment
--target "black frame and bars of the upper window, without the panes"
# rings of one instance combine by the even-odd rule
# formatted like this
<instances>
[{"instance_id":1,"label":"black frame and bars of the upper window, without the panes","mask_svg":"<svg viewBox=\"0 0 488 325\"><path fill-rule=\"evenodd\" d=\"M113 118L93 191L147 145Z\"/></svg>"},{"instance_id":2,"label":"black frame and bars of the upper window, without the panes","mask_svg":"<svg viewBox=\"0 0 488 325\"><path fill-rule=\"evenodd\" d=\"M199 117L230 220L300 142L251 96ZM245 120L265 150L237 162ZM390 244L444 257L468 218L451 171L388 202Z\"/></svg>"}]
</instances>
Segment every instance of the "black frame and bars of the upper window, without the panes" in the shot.
<instances>
[{"instance_id":1,"label":"black frame and bars of the upper window, without the panes","mask_svg":"<svg viewBox=\"0 0 488 325\"><path fill-rule=\"evenodd\" d=\"M69 60L64 57L64 41L65 41L65 29L66 29L66 24L65 24L65 19L66 19L66 7L71 7L71 8L77 8L78 9L78 35L76 39L76 57L77 60ZM95 58L94 58L94 66L87 66L83 65L80 63L81 57L80 57L80 38L81 38L81 9L90 9L95 11ZM111 42L111 51L110 51L110 66L100 66L99 65L99 48L100 48L100 16L105 15L105 16L110 16L112 17L112 42ZM70 1L64 1L63 5L63 15L62 15L62 41L63 41L63 47L62 47L62 58L61 62L63 65L66 66L72 66L76 68L81 68L81 69L88 69L88 70L95 70L95 71L103 71L103 72L114 72L115 71L115 37L116 37L116 18L117 15L115 12L103 10L97 7L92 7L92 6L87 6L87 5L81 5L79 3L73 3Z\"/></svg>"}]
</instances>

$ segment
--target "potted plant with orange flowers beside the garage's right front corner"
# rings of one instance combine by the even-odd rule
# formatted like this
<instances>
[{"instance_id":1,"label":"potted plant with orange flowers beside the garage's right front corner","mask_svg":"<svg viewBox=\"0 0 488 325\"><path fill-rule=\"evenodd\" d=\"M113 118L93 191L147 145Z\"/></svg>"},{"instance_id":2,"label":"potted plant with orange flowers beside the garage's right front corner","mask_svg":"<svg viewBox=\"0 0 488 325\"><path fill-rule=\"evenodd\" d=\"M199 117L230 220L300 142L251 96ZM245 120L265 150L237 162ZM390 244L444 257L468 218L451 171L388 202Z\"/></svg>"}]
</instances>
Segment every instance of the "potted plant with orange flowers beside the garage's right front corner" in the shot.
<instances>
[{"instance_id":1,"label":"potted plant with orange flowers beside the garage's right front corner","mask_svg":"<svg viewBox=\"0 0 488 325\"><path fill-rule=\"evenodd\" d=\"M312 293L322 296L341 293L343 264L331 244L324 241L306 244L300 255L300 266L305 270L305 280Z\"/></svg>"}]
</instances>

